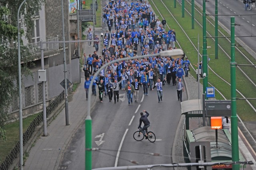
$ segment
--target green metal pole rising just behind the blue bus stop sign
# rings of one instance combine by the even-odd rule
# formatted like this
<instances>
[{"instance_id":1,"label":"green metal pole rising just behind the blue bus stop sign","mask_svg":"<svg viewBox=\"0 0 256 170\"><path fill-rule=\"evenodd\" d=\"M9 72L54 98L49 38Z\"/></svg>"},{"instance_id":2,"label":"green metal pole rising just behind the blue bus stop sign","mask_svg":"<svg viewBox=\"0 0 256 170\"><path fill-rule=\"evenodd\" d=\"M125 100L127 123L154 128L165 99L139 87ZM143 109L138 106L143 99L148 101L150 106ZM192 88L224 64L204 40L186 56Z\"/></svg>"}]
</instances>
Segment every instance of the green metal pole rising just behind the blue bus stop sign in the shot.
<instances>
[{"instance_id":1,"label":"green metal pole rising just behind the blue bus stop sign","mask_svg":"<svg viewBox=\"0 0 256 170\"><path fill-rule=\"evenodd\" d=\"M207 42L206 42L206 0L203 0L203 73L206 77L203 80L203 93L206 94L206 87L208 86L208 58L207 58Z\"/></svg>"}]
</instances>

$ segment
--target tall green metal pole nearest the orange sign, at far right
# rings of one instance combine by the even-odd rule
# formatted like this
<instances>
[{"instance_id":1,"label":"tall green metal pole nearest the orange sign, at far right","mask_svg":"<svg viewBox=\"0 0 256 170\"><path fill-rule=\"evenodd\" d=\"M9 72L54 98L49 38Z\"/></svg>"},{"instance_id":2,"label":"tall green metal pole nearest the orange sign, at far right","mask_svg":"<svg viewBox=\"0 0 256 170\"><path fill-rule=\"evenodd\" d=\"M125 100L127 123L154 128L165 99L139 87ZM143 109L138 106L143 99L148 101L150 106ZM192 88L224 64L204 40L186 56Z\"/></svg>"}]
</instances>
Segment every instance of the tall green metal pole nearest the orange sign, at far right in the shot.
<instances>
[{"instance_id":1,"label":"tall green metal pole nearest the orange sign, at far right","mask_svg":"<svg viewBox=\"0 0 256 170\"><path fill-rule=\"evenodd\" d=\"M239 161L238 152L238 125L236 116L236 62L235 62L235 17L230 18L231 22L231 140L232 140L232 161ZM239 164L232 166L233 170L239 170Z\"/></svg>"}]
</instances>

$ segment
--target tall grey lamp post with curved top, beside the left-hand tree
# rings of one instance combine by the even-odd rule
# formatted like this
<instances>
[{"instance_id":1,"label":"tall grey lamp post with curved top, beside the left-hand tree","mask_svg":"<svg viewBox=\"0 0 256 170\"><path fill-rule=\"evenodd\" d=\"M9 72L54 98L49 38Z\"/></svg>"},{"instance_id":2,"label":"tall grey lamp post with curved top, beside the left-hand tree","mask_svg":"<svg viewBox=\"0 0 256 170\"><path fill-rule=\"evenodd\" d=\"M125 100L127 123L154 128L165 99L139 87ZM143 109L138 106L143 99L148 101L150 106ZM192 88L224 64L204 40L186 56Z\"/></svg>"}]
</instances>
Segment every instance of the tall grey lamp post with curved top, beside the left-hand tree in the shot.
<instances>
[{"instance_id":1,"label":"tall grey lamp post with curved top, beside the left-hand tree","mask_svg":"<svg viewBox=\"0 0 256 170\"><path fill-rule=\"evenodd\" d=\"M20 68L20 8L26 2L24 0L18 9L17 24L18 24L18 79L19 79L19 124L20 124L20 170L23 170L23 134L22 134L22 94L21 94L21 68Z\"/></svg>"}]
</instances>

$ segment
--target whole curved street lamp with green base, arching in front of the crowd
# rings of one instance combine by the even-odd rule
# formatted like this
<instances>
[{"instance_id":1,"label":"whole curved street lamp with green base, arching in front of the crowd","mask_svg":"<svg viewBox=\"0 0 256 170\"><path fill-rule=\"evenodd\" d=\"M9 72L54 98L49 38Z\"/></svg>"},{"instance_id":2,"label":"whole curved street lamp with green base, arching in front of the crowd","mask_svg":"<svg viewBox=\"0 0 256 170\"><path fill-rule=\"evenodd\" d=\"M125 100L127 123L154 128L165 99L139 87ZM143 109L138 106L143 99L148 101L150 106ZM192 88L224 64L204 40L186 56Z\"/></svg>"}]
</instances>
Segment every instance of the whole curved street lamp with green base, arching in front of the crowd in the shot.
<instances>
[{"instance_id":1,"label":"whole curved street lamp with green base, arching in front of the crowd","mask_svg":"<svg viewBox=\"0 0 256 170\"><path fill-rule=\"evenodd\" d=\"M110 61L109 63L103 65L100 67L100 69L95 73L93 76L90 86L89 86L89 91L88 94L92 93L92 84L93 81L95 80L96 75L100 73L102 69L105 69L108 65L111 65L113 63L119 62L119 61L124 61L127 59L140 59L143 57L156 57L156 56L175 56L175 55L183 55L182 49L172 49L172 50L166 50L166 51L161 51L160 53L157 54L150 54L150 55L140 55L137 57L130 57L130 58L120 58L116 59L114 61ZM87 107L87 116L85 119L85 169L86 170L91 170L92 169L92 118L91 118L91 95L89 95L88 98L88 107Z\"/></svg>"}]
</instances>

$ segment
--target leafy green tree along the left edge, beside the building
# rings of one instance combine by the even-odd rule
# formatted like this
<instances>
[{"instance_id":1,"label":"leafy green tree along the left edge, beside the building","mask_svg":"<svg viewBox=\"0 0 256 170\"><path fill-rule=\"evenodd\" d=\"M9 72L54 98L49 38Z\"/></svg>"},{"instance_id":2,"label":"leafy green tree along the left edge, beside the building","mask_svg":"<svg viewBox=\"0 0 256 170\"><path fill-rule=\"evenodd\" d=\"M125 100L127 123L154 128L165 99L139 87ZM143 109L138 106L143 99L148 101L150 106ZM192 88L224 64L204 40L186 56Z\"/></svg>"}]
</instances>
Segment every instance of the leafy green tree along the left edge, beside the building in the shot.
<instances>
[{"instance_id":1,"label":"leafy green tree along the left edge, beside the building","mask_svg":"<svg viewBox=\"0 0 256 170\"><path fill-rule=\"evenodd\" d=\"M4 124L8 108L18 91L18 49L17 49L17 14L22 0L0 0L0 140L5 139ZM22 26L26 28L25 37L29 40L34 28L33 17L41 9L44 0L27 0L20 14ZM26 9L26 10L25 10ZM24 30L20 30L24 35ZM22 42L21 42L22 44ZM22 75L31 74L28 67L33 65L29 51L21 46Z\"/></svg>"}]
</instances>

